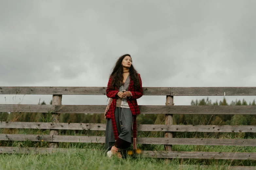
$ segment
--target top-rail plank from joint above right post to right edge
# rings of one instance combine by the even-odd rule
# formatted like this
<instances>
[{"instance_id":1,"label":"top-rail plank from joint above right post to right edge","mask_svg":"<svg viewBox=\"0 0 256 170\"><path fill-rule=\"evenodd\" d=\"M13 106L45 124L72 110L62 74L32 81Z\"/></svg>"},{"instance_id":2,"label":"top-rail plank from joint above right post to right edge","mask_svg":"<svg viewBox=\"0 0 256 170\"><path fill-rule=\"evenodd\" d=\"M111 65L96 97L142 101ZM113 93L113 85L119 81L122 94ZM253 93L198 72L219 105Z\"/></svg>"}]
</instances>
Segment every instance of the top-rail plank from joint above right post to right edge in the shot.
<instances>
[{"instance_id":1,"label":"top-rail plank from joint above right post to right edge","mask_svg":"<svg viewBox=\"0 0 256 170\"><path fill-rule=\"evenodd\" d=\"M172 96L256 96L256 87L171 87Z\"/></svg>"}]
</instances>

